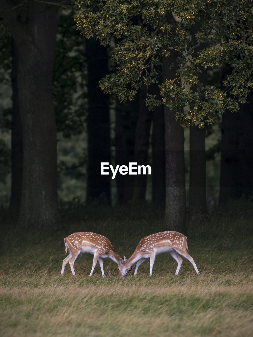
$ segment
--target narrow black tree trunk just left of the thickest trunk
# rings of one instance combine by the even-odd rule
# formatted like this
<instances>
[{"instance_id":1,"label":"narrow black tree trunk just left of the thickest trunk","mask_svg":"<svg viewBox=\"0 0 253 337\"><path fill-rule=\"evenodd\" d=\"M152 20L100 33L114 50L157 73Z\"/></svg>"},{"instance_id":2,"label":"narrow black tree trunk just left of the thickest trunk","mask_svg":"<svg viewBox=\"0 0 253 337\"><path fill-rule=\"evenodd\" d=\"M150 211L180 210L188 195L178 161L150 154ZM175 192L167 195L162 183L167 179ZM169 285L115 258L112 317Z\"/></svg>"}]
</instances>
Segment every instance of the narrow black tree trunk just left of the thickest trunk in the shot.
<instances>
[{"instance_id":1,"label":"narrow black tree trunk just left of the thickest trunk","mask_svg":"<svg viewBox=\"0 0 253 337\"><path fill-rule=\"evenodd\" d=\"M22 192L23 140L21 117L18 98L18 50L15 42L12 44L12 121L11 121L11 196L10 210L12 214L19 214Z\"/></svg>"}]
</instances>

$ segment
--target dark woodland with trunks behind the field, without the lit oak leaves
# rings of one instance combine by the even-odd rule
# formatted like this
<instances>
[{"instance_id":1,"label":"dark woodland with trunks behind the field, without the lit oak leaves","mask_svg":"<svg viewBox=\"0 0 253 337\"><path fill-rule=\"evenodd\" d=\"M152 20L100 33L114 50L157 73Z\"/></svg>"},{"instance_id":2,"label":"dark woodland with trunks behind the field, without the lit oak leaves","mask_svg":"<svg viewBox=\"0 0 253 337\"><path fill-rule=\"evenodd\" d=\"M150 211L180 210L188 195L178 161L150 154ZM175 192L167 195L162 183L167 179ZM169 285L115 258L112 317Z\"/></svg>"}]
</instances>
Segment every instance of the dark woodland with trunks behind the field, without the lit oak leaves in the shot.
<instances>
[{"instance_id":1,"label":"dark woodland with trunks behind the field, without the lit oak leaves","mask_svg":"<svg viewBox=\"0 0 253 337\"><path fill-rule=\"evenodd\" d=\"M60 229L62 208L75 203L84 209L145 204L161 209L168 229L186 233L188 218L204 218L230 199L250 200L252 90L240 111L184 129L168 106L148 109L145 85L126 102L99 88L115 72L110 53L117 41L106 47L79 35L72 3L1 6L1 97L7 99L0 106L1 203L17 228ZM172 14L167 21L175 27ZM198 22L191 29L194 36ZM176 77L177 57L162 57L158 85ZM203 82L217 87L229 71L202 70ZM149 90L160 95L157 85ZM136 162L152 172L113 180L101 175L101 162Z\"/></svg>"}]
</instances>

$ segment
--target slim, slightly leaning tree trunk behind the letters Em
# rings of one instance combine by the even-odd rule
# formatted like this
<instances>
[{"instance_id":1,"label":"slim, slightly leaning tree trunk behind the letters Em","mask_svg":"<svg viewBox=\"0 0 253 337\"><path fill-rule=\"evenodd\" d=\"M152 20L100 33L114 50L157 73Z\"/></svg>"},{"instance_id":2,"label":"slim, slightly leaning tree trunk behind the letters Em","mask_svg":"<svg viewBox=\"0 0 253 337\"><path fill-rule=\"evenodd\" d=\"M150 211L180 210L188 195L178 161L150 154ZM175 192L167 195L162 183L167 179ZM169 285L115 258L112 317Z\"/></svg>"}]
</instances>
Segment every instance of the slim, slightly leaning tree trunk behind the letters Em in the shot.
<instances>
[{"instance_id":1,"label":"slim, slightly leaning tree trunk behind the letters Em","mask_svg":"<svg viewBox=\"0 0 253 337\"><path fill-rule=\"evenodd\" d=\"M142 86L139 92L139 116L135 130L134 162L137 165L148 165L148 147L151 126L151 112L146 107L146 90ZM134 176L133 201L145 200L147 176Z\"/></svg>"}]
</instances>

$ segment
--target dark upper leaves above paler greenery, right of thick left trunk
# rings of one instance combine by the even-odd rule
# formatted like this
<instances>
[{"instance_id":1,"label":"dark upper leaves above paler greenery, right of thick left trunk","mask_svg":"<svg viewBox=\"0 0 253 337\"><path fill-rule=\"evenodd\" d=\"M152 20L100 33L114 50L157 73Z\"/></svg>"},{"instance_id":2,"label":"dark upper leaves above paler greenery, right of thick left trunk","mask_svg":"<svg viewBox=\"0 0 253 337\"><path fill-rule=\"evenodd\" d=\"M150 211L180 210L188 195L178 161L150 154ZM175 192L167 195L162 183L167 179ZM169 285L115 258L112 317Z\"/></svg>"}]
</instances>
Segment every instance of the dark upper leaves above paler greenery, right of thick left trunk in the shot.
<instances>
[{"instance_id":1,"label":"dark upper leaves above paler greenery, right of thick left trunk","mask_svg":"<svg viewBox=\"0 0 253 337\"><path fill-rule=\"evenodd\" d=\"M73 11L62 11L56 34L53 97L57 131L80 134L86 122L85 40L76 30Z\"/></svg>"}]
</instances>

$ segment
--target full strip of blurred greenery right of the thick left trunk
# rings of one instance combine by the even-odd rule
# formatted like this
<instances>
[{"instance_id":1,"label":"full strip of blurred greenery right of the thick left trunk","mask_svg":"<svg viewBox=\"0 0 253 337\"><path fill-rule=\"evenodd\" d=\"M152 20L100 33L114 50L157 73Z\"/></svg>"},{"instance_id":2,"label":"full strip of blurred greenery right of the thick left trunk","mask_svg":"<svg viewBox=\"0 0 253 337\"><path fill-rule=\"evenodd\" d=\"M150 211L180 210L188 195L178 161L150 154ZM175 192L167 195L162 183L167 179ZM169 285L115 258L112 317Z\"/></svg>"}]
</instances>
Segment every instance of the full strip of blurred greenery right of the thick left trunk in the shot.
<instances>
[{"instance_id":1,"label":"full strip of blurred greenery right of the thick left trunk","mask_svg":"<svg viewBox=\"0 0 253 337\"><path fill-rule=\"evenodd\" d=\"M63 10L56 34L53 100L57 126L58 197L85 198L87 63L85 39L72 10Z\"/></svg>"}]
</instances>

